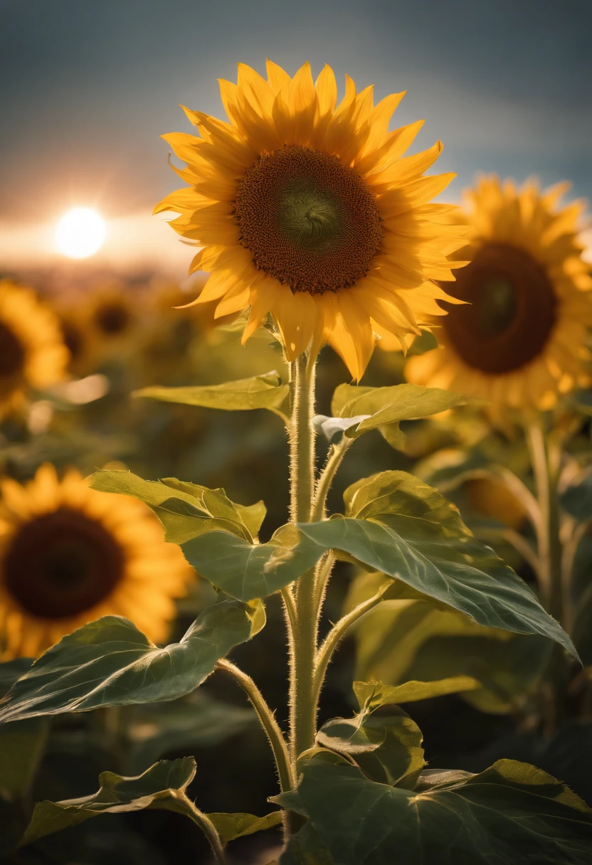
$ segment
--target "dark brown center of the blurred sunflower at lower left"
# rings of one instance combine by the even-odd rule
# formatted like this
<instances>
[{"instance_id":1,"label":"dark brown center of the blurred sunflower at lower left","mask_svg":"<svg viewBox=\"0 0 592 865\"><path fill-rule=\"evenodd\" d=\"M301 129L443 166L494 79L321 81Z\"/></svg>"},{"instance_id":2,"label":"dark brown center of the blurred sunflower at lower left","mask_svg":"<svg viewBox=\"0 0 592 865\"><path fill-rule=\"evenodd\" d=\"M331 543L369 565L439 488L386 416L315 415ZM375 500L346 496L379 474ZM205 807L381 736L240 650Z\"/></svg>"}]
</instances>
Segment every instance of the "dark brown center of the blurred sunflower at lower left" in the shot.
<instances>
[{"instance_id":1,"label":"dark brown center of the blurred sunflower at lower left","mask_svg":"<svg viewBox=\"0 0 592 865\"><path fill-rule=\"evenodd\" d=\"M107 598L124 566L123 550L100 522L60 508L18 529L4 556L3 579L30 615L68 618Z\"/></svg>"}]
</instances>

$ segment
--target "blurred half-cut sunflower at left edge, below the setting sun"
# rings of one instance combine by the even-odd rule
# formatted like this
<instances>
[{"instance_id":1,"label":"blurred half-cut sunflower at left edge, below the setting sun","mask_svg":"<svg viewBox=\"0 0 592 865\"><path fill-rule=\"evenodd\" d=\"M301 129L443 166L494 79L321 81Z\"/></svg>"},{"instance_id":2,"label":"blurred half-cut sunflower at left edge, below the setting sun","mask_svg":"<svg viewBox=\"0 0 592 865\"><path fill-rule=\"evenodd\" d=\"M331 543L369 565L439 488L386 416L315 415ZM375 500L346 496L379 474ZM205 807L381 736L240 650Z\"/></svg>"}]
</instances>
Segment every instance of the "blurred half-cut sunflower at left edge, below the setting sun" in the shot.
<instances>
[{"instance_id":1,"label":"blurred half-cut sunflower at left edge, below the setting sun","mask_svg":"<svg viewBox=\"0 0 592 865\"><path fill-rule=\"evenodd\" d=\"M28 387L61 381L67 363L54 313L31 289L0 280L0 416L23 402Z\"/></svg>"}]
</instances>

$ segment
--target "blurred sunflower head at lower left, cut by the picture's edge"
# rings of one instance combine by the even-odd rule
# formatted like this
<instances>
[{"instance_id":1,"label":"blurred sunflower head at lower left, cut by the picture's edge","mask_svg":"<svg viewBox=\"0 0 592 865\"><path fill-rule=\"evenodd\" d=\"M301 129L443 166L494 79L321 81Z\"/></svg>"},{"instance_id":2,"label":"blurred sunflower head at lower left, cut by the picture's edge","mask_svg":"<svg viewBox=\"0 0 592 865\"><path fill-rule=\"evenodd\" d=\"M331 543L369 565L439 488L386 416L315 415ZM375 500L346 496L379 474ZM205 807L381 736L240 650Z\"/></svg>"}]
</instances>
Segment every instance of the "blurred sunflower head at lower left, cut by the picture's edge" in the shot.
<instances>
[{"instance_id":1,"label":"blurred sunflower head at lower left, cut by the picture's edge","mask_svg":"<svg viewBox=\"0 0 592 865\"><path fill-rule=\"evenodd\" d=\"M0 644L3 657L35 657L100 616L132 619L166 638L193 571L164 542L151 510L88 487L78 471L61 482L45 464L21 486L0 483Z\"/></svg>"}]
</instances>

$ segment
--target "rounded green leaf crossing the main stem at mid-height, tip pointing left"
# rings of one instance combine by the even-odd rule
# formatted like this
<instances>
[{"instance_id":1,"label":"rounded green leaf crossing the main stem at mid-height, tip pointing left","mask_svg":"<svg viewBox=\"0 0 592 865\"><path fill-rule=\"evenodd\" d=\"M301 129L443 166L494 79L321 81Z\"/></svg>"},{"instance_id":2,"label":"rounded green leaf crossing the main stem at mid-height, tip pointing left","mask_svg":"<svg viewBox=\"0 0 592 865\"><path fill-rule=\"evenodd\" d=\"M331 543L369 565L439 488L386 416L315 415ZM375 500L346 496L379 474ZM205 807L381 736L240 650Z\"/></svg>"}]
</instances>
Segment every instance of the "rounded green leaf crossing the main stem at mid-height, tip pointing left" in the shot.
<instances>
[{"instance_id":1,"label":"rounded green leaf crossing the main stem at mid-height, tip pointing left","mask_svg":"<svg viewBox=\"0 0 592 865\"><path fill-rule=\"evenodd\" d=\"M292 524L264 544L250 544L228 532L209 532L181 545L190 565L216 588L238 600L265 598L313 567L323 554L317 543Z\"/></svg>"}]
</instances>

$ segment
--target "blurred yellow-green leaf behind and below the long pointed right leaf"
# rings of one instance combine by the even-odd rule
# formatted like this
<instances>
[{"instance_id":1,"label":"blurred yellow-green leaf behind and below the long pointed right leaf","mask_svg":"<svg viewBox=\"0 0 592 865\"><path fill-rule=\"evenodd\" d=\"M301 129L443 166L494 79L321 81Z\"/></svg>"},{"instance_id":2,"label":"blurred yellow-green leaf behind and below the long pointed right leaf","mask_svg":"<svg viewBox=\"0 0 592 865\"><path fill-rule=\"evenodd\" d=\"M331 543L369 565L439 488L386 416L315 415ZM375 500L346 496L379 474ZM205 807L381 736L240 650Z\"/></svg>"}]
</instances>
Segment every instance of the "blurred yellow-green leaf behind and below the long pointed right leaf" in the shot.
<instances>
[{"instance_id":1,"label":"blurred yellow-green leaf behind and below the long pointed right leaf","mask_svg":"<svg viewBox=\"0 0 592 865\"><path fill-rule=\"evenodd\" d=\"M383 582L379 573L357 576L345 612L371 598ZM411 684L409 679L420 680L428 688L441 687L441 680L451 686L464 680L479 682L479 688L459 687L454 692L481 711L493 713L515 708L517 699L537 682L553 645L543 637L482 627L450 607L436 608L421 595L383 601L366 613L355 637L356 675L360 678L404 691ZM398 697L393 702L408 699Z\"/></svg>"}]
</instances>

